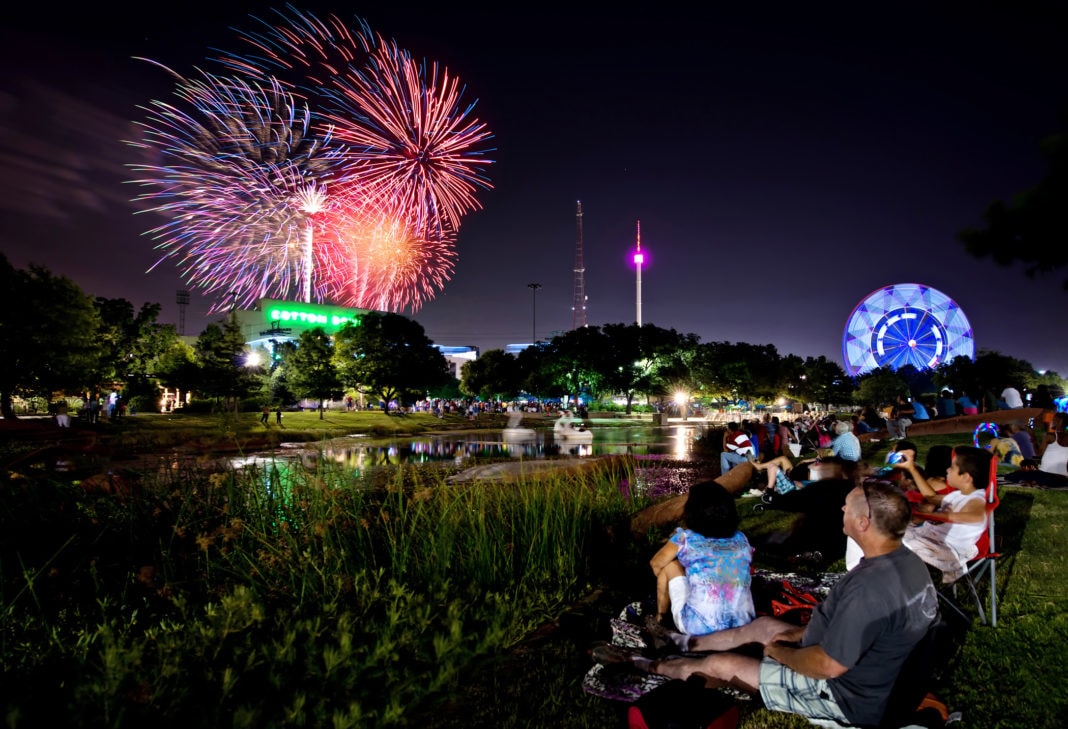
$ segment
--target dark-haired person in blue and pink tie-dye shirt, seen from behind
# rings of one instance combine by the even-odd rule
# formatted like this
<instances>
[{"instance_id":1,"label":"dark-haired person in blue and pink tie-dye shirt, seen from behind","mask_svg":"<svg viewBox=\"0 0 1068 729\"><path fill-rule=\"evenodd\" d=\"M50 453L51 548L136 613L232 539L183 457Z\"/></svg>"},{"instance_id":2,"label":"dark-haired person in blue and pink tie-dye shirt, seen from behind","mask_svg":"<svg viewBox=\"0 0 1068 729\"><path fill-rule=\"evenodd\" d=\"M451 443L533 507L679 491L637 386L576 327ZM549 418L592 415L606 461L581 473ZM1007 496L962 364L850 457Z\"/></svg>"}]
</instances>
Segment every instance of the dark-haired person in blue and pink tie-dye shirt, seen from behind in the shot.
<instances>
[{"instance_id":1,"label":"dark-haired person in blue and pink tie-dye shirt, seen from behind","mask_svg":"<svg viewBox=\"0 0 1068 729\"><path fill-rule=\"evenodd\" d=\"M750 590L753 548L738 530L734 495L716 481L690 488L682 526L649 560L658 625L690 635L744 625L756 616ZM669 616L670 613L670 616Z\"/></svg>"}]
</instances>

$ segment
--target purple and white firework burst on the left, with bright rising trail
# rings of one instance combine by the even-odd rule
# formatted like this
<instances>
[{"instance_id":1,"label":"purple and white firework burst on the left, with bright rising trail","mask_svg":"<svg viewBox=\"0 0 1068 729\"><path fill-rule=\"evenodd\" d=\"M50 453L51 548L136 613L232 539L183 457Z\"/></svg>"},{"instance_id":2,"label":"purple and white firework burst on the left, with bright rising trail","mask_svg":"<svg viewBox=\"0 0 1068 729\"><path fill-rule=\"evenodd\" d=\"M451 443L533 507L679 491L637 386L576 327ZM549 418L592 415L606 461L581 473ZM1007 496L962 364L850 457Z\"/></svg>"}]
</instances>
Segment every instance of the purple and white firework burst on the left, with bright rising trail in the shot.
<instances>
[{"instance_id":1,"label":"purple and white firework burst on the left, with bright rising trail","mask_svg":"<svg viewBox=\"0 0 1068 729\"><path fill-rule=\"evenodd\" d=\"M294 288L310 300L313 231L344 150L312 133L310 111L278 83L174 76L180 104L153 101L131 142L160 158L132 165L148 188L137 200L169 219L148 231L163 252L156 265L173 258L191 285L224 294L216 310Z\"/></svg>"}]
</instances>

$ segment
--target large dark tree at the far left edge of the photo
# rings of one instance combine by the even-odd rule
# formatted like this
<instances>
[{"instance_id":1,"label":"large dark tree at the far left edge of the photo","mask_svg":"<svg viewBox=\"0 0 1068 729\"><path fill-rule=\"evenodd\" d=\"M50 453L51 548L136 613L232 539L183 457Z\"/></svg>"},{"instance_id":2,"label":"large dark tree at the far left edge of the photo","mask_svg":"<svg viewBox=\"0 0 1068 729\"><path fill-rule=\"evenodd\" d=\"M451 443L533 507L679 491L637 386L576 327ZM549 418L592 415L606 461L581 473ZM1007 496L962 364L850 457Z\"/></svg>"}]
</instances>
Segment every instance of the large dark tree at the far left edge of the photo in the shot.
<instances>
[{"instance_id":1,"label":"large dark tree at the far left edge of the photo","mask_svg":"<svg viewBox=\"0 0 1068 729\"><path fill-rule=\"evenodd\" d=\"M15 395L51 399L77 391L99 369L100 317L65 276L31 265L15 269L0 254L0 412L14 418Z\"/></svg>"}]
</instances>

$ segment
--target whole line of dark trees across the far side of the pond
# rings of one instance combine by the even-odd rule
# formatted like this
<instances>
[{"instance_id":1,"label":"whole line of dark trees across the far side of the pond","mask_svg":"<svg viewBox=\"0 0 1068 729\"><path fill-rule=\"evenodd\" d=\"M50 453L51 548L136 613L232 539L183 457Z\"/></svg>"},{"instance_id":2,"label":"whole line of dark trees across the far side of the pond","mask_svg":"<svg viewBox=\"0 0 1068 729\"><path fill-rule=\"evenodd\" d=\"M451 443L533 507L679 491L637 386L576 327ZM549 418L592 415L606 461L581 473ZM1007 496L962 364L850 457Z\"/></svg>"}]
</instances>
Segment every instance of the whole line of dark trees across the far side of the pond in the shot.
<instances>
[{"instance_id":1,"label":"whole line of dark trees across the far side of the pond","mask_svg":"<svg viewBox=\"0 0 1068 729\"><path fill-rule=\"evenodd\" d=\"M703 343L651 323L585 327L518 355L489 350L467 363L457 381L423 328L396 314L371 313L332 336L305 331L296 342L279 340L254 363L233 316L209 323L188 345L173 324L159 322L159 313L156 303L136 310L124 299L91 297L69 279L40 266L16 269L0 254L0 412L14 416L14 397L49 401L56 393L111 389L150 410L158 407L160 386L193 392L225 410L250 398L305 398L317 400L320 412L326 401L354 392L402 406L437 397L619 398L629 412L635 402L677 392L720 403L868 405L941 387L1064 386L1055 373L989 351L934 370L883 368L850 378L822 355L781 354L770 344Z\"/></svg>"}]
</instances>

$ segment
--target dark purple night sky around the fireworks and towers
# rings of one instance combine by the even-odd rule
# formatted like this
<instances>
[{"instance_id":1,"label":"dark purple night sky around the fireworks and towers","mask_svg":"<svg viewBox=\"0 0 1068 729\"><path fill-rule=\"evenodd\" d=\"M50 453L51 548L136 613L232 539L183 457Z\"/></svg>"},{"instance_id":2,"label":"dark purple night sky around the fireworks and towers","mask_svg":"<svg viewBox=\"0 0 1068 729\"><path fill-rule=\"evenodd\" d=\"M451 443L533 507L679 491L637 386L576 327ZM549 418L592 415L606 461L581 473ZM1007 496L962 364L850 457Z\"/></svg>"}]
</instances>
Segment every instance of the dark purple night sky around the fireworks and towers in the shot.
<instances>
[{"instance_id":1,"label":"dark purple night sky around the fireworks and towers","mask_svg":"<svg viewBox=\"0 0 1068 729\"><path fill-rule=\"evenodd\" d=\"M299 5L444 64L494 134L494 188L414 314L435 342L569 329L582 201L592 324L634 320L640 219L645 322L842 362L853 306L921 283L960 304L977 348L1068 375L1065 272L1030 280L956 240L1046 171L1039 141L1068 107L1063 4L581 5ZM169 262L146 273L160 220L134 215L121 142L171 86L132 57L211 67L213 46L240 47L230 27L278 4L38 6L0 31L0 250L176 322L186 286ZM191 290L194 334L215 317Z\"/></svg>"}]
</instances>

